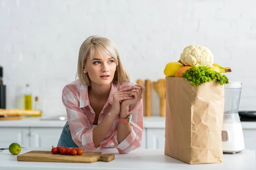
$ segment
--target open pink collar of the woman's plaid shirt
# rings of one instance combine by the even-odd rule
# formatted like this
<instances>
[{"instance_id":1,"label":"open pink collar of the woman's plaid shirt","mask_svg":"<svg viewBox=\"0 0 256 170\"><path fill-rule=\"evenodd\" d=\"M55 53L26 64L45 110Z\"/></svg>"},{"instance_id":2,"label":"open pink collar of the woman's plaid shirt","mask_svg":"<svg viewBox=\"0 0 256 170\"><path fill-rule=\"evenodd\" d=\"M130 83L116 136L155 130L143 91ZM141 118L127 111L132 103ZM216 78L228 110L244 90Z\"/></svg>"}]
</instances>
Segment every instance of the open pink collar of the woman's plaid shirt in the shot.
<instances>
[{"instance_id":1,"label":"open pink collar of the woman's plaid shirt","mask_svg":"<svg viewBox=\"0 0 256 170\"><path fill-rule=\"evenodd\" d=\"M111 89L110 89L110 93L109 93L106 104L109 103L113 105L113 93L116 91L118 91L116 83L111 82ZM81 85L80 92L79 92L79 102L80 102L79 108L84 108L90 105L89 96L88 96L88 86Z\"/></svg>"}]
</instances>

